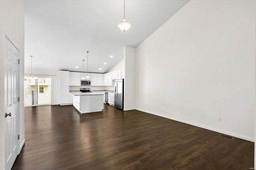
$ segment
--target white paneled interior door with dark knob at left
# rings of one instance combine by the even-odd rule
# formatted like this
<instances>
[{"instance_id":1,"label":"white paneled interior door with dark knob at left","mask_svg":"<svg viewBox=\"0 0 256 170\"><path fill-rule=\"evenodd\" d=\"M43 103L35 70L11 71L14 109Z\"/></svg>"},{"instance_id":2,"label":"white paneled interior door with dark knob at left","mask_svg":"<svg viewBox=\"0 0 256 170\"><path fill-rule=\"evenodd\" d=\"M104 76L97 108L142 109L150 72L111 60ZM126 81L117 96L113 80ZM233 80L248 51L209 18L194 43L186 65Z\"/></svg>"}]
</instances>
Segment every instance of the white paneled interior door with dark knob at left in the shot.
<instances>
[{"instance_id":1,"label":"white paneled interior door with dark knob at left","mask_svg":"<svg viewBox=\"0 0 256 170\"><path fill-rule=\"evenodd\" d=\"M5 37L4 40L4 131L5 169L10 170L18 155L18 115L19 115L19 70L18 49Z\"/></svg>"}]
</instances>

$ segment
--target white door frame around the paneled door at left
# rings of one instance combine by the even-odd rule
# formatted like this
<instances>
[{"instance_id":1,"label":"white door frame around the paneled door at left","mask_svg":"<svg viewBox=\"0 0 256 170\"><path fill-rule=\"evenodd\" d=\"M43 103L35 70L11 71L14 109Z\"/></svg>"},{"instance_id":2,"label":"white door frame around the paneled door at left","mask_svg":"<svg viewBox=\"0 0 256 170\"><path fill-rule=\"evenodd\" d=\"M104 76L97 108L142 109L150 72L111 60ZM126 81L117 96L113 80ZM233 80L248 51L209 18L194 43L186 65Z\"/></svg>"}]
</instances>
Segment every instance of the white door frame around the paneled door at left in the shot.
<instances>
[{"instance_id":1,"label":"white door frame around the paneled door at left","mask_svg":"<svg viewBox=\"0 0 256 170\"><path fill-rule=\"evenodd\" d=\"M14 47L16 47L18 49L18 59L20 59L20 48L18 47L18 45L15 43L15 41L13 41L10 36L8 36L8 34L3 31L2 27L0 27L0 169L4 170L5 169L5 147L4 147L4 141L5 141L5 133L4 133L4 129L5 129L5 116L4 116L4 100L5 100L5 96L4 96L4 86L5 86L5 82L4 82L4 45L5 45L5 37L14 45ZM18 65L18 97L20 97L20 64ZM21 100L21 99L20 99ZM20 103L18 104L18 114L17 116L17 134L20 135L20 108L22 108L20 106ZM23 144L24 145L24 144ZM17 140L17 147L18 147L18 153L20 154L20 140Z\"/></svg>"}]
</instances>

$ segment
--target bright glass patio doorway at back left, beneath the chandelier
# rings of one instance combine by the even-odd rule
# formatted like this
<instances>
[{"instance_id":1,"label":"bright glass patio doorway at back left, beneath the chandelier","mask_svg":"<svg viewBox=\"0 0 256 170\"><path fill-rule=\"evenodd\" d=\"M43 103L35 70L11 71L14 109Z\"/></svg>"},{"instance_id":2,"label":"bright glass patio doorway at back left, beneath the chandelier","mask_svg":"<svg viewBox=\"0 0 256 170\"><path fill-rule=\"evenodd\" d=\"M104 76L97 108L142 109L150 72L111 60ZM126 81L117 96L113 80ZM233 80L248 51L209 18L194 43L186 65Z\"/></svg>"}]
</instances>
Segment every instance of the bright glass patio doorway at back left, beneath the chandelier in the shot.
<instances>
[{"instance_id":1,"label":"bright glass patio doorway at back left, beneath the chandelier","mask_svg":"<svg viewBox=\"0 0 256 170\"><path fill-rule=\"evenodd\" d=\"M51 104L51 78L24 78L24 106Z\"/></svg>"}]
</instances>

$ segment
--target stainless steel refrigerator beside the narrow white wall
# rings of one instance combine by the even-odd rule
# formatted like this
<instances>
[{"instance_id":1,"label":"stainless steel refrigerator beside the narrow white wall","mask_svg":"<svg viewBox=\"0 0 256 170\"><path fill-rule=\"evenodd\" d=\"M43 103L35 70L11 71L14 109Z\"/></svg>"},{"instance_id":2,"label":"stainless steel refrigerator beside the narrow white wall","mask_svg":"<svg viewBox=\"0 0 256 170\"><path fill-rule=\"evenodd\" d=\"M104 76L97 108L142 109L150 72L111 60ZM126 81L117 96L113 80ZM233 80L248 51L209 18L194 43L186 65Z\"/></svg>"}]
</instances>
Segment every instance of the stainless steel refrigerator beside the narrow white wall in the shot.
<instances>
[{"instance_id":1,"label":"stainless steel refrigerator beside the narrow white wall","mask_svg":"<svg viewBox=\"0 0 256 170\"><path fill-rule=\"evenodd\" d=\"M115 80L114 106L124 109L124 79Z\"/></svg>"}]
</instances>

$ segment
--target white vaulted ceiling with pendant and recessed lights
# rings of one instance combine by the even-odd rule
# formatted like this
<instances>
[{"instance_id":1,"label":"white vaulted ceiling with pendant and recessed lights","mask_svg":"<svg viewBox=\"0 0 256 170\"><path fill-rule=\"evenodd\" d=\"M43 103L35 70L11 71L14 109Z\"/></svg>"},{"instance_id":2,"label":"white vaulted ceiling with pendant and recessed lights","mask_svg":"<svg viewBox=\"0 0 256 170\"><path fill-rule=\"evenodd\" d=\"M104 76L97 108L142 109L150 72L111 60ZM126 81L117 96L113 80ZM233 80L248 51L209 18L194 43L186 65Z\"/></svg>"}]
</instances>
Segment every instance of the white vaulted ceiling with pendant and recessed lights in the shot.
<instances>
[{"instance_id":1,"label":"white vaulted ceiling with pendant and recessed lights","mask_svg":"<svg viewBox=\"0 0 256 170\"><path fill-rule=\"evenodd\" d=\"M88 71L108 72L124 58L125 46L140 45L188 1L126 0L132 27L123 32L117 27L123 0L26 0L25 69L33 55L33 68L82 71L89 51Z\"/></svg>"}]
</instances>

